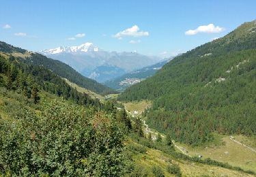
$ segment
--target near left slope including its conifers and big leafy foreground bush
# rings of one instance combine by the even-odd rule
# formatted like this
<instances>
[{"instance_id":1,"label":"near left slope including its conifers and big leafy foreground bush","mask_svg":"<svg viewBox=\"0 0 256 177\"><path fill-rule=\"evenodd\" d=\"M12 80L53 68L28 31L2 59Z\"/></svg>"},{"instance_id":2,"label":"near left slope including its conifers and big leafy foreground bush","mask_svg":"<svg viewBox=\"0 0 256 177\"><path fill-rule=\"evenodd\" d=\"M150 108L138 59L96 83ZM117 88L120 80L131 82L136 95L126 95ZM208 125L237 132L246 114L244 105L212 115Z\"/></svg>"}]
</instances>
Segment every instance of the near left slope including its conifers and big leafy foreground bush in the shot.
<instances>
[{"instance_id":1,"label":"near left slope including its conifers and big leafy foreground bush","mask_svg":"<svg viewBox=\"0 0 256 177\"><path fill-rule=\"evenodd\" d=\"M120 176L129 121L44 66L0 53L0 176Z\"/></svg>"}]
</instances>

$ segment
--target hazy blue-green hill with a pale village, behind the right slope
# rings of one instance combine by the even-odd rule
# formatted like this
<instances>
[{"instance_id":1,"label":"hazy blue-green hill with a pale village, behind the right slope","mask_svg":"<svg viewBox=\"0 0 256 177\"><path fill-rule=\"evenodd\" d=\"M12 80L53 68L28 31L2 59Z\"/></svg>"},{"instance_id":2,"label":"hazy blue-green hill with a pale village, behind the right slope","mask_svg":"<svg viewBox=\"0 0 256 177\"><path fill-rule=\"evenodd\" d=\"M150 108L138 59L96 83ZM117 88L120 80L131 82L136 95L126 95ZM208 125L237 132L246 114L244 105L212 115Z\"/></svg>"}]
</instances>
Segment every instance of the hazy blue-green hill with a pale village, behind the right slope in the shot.
<instances>
[{"instance_id":1,"label":"hazy blue-green hill with a pale village, behind the right slope","mask_svg":"<svg viewBox=\"0 0 256 177\"><path fill-rule=\"evenodd\" d=\"M115 78L113 80L108 80L104 82L106 86L109 86L110 88L113 88L117 91L124 91L126 88L133 84L137 84L141 82L141 80L145 80L146 78L150 76L154 76L156 71L162 68L163 65L168 63L173 57L171 57L168 60L162 61L160 63L156 63L154 65L150 65L147 67L143 67L141 69L137 69L135 71L132 71L130 73L124 74L123 76L120 76L118 78Z\"/></svg>"}]
</instances>

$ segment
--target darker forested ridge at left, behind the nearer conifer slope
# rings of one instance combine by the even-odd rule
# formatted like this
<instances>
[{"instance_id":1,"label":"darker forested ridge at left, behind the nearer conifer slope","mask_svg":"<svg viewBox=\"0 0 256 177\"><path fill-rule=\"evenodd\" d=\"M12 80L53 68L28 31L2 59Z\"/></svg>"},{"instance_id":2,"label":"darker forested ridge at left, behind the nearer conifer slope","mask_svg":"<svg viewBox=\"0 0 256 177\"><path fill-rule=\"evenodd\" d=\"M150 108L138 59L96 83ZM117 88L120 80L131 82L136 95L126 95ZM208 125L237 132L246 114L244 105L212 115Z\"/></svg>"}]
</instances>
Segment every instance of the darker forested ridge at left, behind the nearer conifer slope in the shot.
<instances>
[{"instance_id":1,"label":"darker forested ridge at left, behind the nearer conifer slope","mask_svg":"<svg viewBox=\"0 0 256 177\"><path fill-rule=\"evenodd\" d=\"M44 68L50 69L58 76L61 76L62 78L67 78L71 82L74 82L79 86L87 88L90 91L94 91L102 95L114 93L114 91L111 88L103 86L102 84L99 84L95 80L85 78L84 76L79 74L79 72L72 69L72 67L70 67L69 65L62 63L61 61L49 59L42 54L28 52L27 50L23 50L21 48L16 48L14 46L6 44L5 42L0 42L0 52L5 52L7 54L16 54L16 55L18 55L18 53L21 53L18 56L24 59L23 60L24 63L27 63L29 65L35 65L35 66L42 65L44 66Z\"/></svg>"}]
</instances>

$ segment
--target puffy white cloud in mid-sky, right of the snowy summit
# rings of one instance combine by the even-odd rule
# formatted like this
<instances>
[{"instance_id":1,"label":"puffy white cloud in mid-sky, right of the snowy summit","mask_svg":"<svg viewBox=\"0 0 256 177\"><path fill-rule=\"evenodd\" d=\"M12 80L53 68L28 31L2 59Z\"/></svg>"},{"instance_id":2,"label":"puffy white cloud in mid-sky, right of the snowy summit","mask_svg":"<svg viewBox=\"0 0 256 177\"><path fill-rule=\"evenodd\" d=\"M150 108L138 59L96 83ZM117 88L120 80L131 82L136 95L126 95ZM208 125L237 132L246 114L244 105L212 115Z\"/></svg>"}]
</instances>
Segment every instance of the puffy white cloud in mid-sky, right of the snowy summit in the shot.
<instances>
[{"instance_id":1,"label":"puffy white cloud in mid-sky, right of the snowy summit","mask_svg":"<svg viewBox=\"0 0 256 177\"><path fill-rule=\"evenodd\" d=\"M120 31L113 35L113 37L122 39L124 36L132 36L132 37L140 37L150 35L147 31L139 31L139 27L137 25L132 26L130 29L125 29L124 31Z\"/></svg>"}]
</instances>

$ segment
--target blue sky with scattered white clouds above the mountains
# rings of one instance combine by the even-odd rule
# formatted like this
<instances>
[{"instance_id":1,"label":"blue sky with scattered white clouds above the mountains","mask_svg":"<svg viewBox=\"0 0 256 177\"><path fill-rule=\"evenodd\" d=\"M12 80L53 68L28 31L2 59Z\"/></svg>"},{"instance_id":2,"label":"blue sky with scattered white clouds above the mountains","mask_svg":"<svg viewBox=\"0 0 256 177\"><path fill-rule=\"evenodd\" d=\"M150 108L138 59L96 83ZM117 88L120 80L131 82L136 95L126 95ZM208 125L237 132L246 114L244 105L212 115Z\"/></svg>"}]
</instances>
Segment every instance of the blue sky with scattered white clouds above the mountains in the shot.
<instances>
[{"instance_id":1,"label":"blue sky with scattered white clouds above the mountains","mask_svg":"<svg viewBox=\"0 0 256 177\"><path fill-rule=\"evenodd\" d=\"M255 0L0 0L0 41L39 51L91 42L170 57L256 19Z\"/></svg>"}]
</instances>

